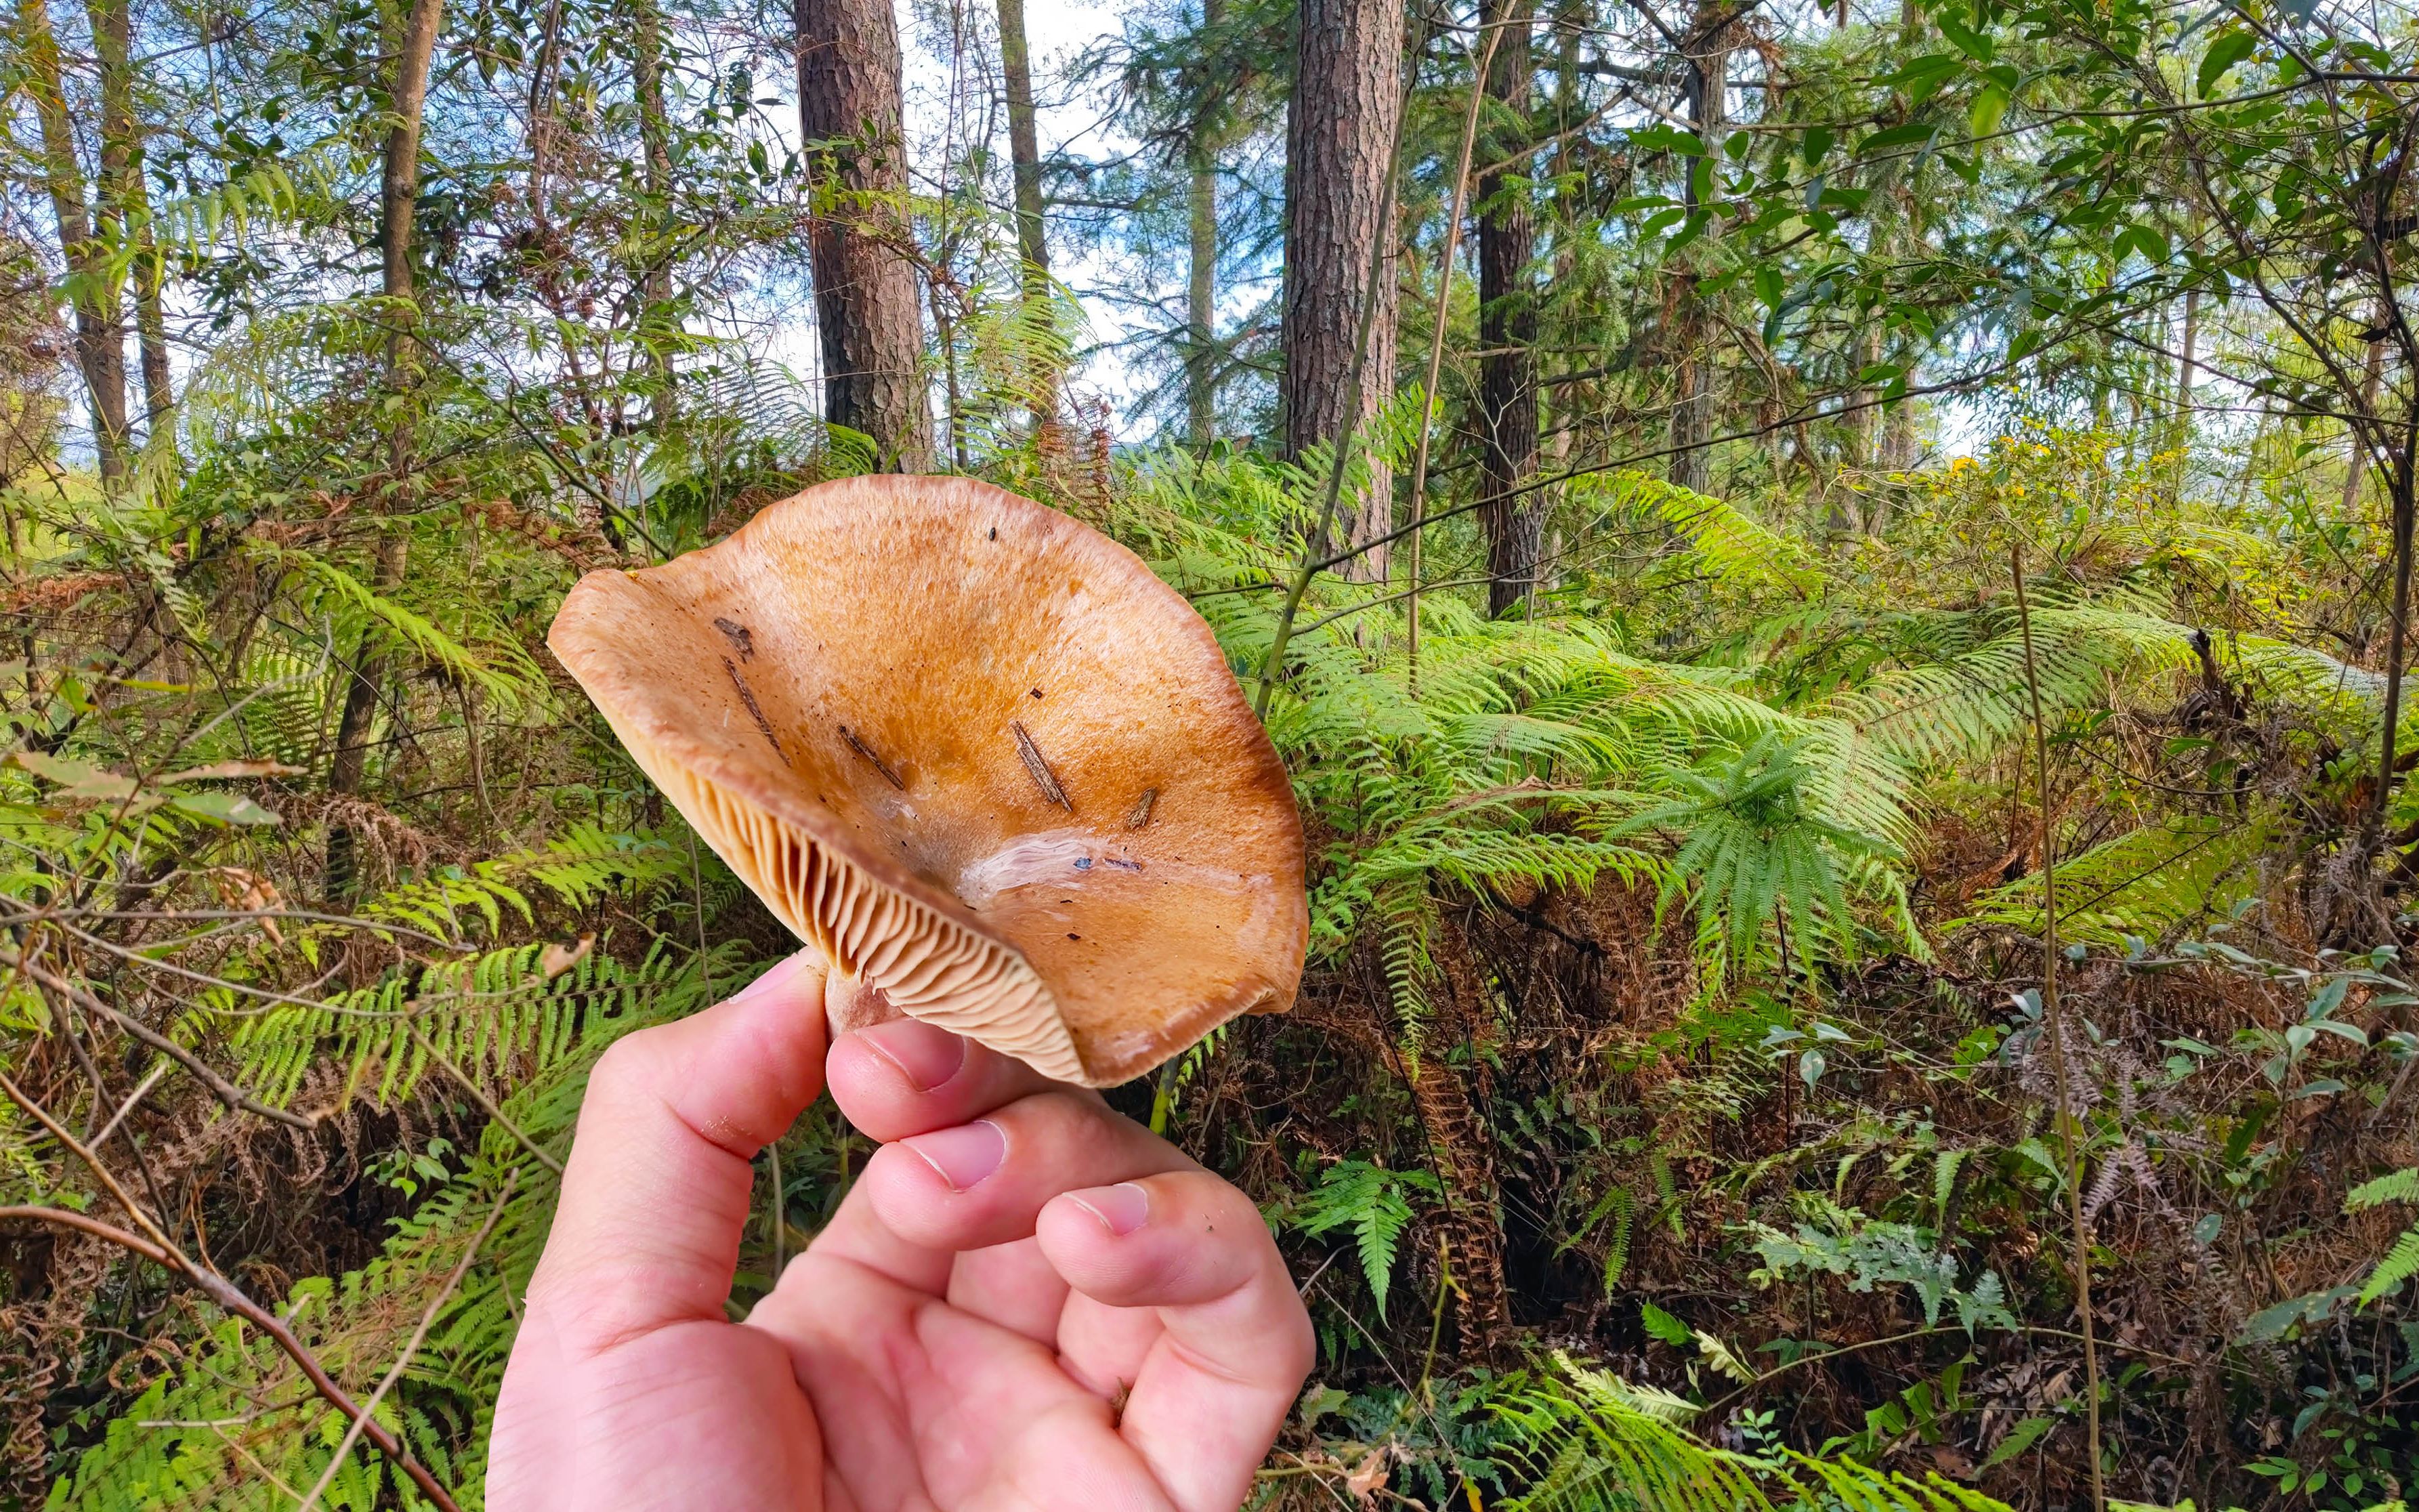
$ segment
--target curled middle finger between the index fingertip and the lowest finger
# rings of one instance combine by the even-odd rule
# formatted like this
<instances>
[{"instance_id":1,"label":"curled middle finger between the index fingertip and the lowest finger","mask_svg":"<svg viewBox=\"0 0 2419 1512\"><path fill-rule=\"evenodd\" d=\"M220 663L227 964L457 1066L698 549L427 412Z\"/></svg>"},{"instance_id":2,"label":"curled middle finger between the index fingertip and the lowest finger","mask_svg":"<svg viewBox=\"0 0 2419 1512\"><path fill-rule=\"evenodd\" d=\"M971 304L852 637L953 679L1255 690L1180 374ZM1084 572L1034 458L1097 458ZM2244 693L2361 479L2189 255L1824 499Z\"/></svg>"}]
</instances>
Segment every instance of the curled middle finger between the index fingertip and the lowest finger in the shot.
<instances>
[{"instance_id":1,"label":"curled middle finger between the index fingertip and the lowest finger","mask_svg":"<svg viewBox=\"0 0 2419 1512\"><path fill-rule=\"evenodd\" d=\"M859 1181L883 1227L926 1251L972 1251L1033 1234L1045 1202L1072 1188L1190 1168L1105 1103L1045 1091L987 1118L885 1144Z\"/></svg>"}]
</instances>

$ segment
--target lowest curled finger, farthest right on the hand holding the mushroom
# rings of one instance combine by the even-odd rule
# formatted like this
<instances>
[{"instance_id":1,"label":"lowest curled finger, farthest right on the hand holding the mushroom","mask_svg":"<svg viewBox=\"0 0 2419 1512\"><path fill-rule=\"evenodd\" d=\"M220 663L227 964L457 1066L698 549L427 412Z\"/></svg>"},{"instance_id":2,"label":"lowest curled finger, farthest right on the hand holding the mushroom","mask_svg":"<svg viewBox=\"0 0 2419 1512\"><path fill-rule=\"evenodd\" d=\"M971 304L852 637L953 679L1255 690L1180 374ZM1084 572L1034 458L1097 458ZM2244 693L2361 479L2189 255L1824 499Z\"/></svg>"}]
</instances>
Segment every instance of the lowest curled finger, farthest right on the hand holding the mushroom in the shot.
<instances>
[{"instance_id":1,"label":"lowest curled finger, farthest right on the hand holding the mushroom","mask_svg":"<svg viewBox=\"0 0 2419 1512\"><path fill-rule=\"evenodd\" d=\"M1311 1316L1251 1198L1207 1171L1168 1171L1052 1200L1038 1239L1079 1294L1159 1314L1161 1333L1139 1362L1105 1355L1132 1347L1118 1318L1103 1318L1098 1340L1062 1338L1062 1350L1076 1345L1079 1377L1132 1381L1118 1432L1176 1507L1239 1507L1311 1374L1314 1345ZM1098 1350L1084 1360L1091 1343Z\"/></svg>"}]
</instances>

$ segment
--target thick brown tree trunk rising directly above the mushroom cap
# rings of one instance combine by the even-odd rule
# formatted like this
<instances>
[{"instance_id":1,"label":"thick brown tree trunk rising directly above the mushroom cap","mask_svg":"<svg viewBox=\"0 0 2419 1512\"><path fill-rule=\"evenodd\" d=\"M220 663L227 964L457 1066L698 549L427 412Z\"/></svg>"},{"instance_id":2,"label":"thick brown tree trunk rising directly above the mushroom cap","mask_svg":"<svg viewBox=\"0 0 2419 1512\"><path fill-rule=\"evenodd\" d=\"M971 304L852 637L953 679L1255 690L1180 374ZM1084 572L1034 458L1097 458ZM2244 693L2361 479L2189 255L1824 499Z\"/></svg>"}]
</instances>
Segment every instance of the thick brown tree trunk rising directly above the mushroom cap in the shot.
<instances>
[{"instance_id":1,"label":"thick brown tree trunk rising directly above the mushroom cap","mask_svg":"<svg viewBox=\"0 0 2419 1512\"><path fill-rule=\"evenodd\" d=\"M813 150L808 264L822 414L885 472L931 469L924 312L907 225L900 39L890 0L793 0L798 126Z\"/></svg>"}]
</instances>

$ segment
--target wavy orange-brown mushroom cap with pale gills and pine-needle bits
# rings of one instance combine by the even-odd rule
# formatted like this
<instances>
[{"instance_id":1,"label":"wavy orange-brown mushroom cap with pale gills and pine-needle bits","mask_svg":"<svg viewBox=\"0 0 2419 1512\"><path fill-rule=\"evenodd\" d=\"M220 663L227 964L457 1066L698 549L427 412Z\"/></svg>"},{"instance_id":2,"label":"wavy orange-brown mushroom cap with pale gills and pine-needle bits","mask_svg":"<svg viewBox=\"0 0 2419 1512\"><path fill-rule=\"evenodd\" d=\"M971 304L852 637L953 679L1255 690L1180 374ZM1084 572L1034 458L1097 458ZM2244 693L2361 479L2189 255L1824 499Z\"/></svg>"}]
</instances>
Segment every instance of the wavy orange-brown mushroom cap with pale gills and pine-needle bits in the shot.
<instances>
[{"instance_id":1,"label":"wavy orange-brown mushroom cap with pale gills and pine-needle bits","mask_svg":"<svg viewBox=\"0 0 2419 1512\"><path fill-rule=\"evenodd\" d=\"M818 484L588 573L547 644L774 917L902 1014L1110 1086L1294 1002L1284 764L1193 605L1057 510Z\"/></svg>"}]
</instances>

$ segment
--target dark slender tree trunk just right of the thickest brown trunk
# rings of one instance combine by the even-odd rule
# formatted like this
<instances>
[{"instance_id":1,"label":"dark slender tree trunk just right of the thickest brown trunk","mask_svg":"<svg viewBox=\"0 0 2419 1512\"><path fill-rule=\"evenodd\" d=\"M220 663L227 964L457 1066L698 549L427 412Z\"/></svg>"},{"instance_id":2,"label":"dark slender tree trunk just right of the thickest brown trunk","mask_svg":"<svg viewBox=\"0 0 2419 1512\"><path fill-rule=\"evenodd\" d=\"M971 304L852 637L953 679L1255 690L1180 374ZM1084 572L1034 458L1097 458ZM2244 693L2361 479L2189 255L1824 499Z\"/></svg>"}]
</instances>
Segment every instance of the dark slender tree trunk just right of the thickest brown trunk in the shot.
<instances>
[{"instance_id":1,"label":"dark slender tree trunk just right of the thickest brown trunk","mask_svg":"<svg viewBox=\"0 0 2419 1512\"><path fill-rule=\"evenodd\" d=\"M1534 60L1529 19L1534 0L1502 0L1495 19L1495 60L1488 97L1497 116L1519 121L1488 143L1488 160L1512 157L1529 135ZM1536 578L1546 508L1538 494L1519 494L1536 477L1536 298L1529 259L1536 223L1529 208L1529 165L1485 174L1478 181L1478 406L1483 411L1485 469L1478 481L1478 523L1488 539L1488 612L1502 614Z\"/></svg>"}]
</instances>

